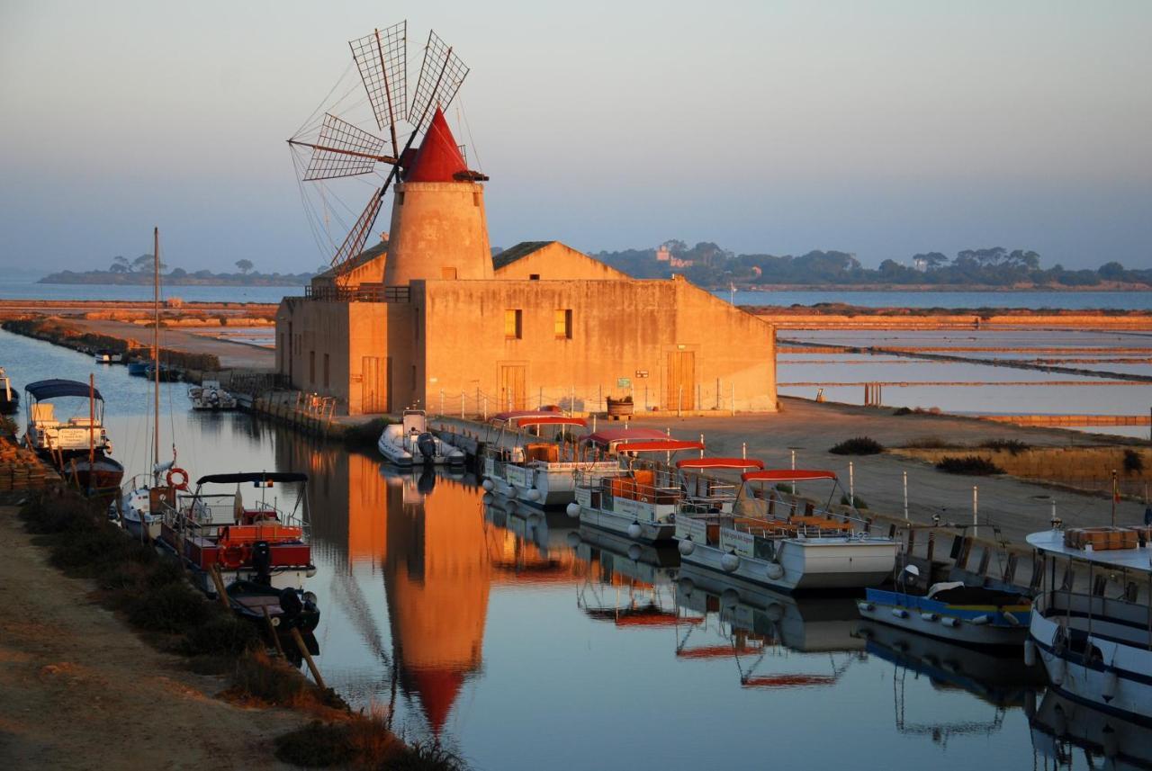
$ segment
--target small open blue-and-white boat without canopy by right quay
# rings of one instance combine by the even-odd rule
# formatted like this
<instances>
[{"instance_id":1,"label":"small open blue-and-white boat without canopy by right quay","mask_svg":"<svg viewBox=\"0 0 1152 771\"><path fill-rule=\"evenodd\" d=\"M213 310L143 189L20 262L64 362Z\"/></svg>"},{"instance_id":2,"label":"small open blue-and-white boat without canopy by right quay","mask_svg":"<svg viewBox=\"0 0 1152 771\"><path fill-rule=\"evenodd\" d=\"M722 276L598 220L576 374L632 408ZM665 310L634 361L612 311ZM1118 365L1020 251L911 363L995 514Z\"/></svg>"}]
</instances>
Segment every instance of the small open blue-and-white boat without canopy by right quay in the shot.
<instances>
[{"instance_id":1,"label":"small open blue-and-white boat without canopy by right quay","mask_svg":"<svg viewBox=\"0 0 1152 771\"><path fill-rule=\"evenodd\" d=\"M1032 602L1018 591L941 581L917 591L919 568L901 571L895 590L869 588L862 618L949 642L1020 649L1028 639ZM909 585L912 587L909 587Z\"/></svg>"}]
</instances>

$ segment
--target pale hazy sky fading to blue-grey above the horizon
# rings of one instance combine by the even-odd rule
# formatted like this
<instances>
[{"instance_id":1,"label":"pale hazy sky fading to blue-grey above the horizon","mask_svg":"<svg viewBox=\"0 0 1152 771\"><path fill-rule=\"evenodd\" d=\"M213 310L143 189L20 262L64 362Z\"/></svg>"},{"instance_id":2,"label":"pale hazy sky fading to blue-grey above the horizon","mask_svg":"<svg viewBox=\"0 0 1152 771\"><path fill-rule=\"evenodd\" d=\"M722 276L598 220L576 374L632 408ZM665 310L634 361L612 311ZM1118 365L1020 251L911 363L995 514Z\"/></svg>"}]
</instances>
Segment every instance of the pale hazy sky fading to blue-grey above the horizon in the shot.
<instances>
[{"instance_id":1,"label":"pale hazy sky fading to blue-grey above the horizon","mask_svg":"<svg viewBox=\"0 0 1152 771\"><path fill-rule=\"evenodd\" d=\"M285 140L403 18L414 82L430 28L471 68L448 116L493 245L1152 267L1142 0L0 0L0 267L105 267L153 226L187 269L327 262Z\"/></svg>"}]
</instances>

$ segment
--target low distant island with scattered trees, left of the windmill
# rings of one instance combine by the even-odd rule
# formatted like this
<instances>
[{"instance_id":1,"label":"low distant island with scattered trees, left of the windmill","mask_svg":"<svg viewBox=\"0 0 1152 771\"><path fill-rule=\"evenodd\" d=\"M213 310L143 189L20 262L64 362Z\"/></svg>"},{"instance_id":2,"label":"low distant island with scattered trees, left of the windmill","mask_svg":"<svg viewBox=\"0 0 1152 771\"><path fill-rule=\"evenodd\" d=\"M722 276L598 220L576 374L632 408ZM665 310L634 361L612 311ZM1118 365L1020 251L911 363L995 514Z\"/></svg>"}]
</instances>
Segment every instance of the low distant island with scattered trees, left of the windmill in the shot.
<instances>
[{"instance_id":1,"label":"low distant island with scattered trees, left of the windmill","mask_svg":"<svg viewBox=\"0 0 1152 771\"><path fill-rule=\"evenodd\" d=\"M236 260L237 273L213 273L197 270L189 273L183 268L173 268L160 264L160 281L166 287L301 287L311 281L314 273L260 273L255 270L250 260ZM321 269L327 269L324 266ZM40 284L120 284L152 285L152 255L141 254L129 261L116 257L107 270L60 270L44 276Z\"/></svg>"}]
</instances>

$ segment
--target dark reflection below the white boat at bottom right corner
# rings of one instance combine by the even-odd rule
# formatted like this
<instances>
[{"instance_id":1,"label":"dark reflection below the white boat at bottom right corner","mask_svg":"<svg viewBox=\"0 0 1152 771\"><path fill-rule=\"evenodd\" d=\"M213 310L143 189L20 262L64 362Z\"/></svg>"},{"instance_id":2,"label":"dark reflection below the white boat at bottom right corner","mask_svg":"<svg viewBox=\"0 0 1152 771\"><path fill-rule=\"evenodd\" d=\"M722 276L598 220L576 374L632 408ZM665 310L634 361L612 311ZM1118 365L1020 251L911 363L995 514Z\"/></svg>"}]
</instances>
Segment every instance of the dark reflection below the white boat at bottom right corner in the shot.
<instances>
[{"instance_id":1,"label":"dark reflection below the white boat at bottom right corner","mask_svg":"<svg viewBox=\"0 0 1152 771\"><path fill-rule=\"evenodd\" d=\"M1055 689L1044 694L1029 725L1032 751L1045 769L1074 768L1077 749L1090 769L1152 769L1152 727L1071 701Z\"/></svg>"}]
</instances>

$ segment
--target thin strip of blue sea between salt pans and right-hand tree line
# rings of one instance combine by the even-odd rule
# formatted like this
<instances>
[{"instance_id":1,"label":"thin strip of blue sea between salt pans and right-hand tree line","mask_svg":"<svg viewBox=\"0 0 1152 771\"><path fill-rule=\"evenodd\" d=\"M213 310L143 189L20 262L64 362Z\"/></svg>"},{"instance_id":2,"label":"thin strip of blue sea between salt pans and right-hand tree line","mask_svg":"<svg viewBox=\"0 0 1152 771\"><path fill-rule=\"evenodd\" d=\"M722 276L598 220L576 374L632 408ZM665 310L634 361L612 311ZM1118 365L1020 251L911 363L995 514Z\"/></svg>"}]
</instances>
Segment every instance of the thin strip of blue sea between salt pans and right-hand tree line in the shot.
<instances>
[{"instance_id":1,"label":"thin strip of blue sea between salt pans and right-hand tree line","mask_svg":"<svg viewBox=\"0 0 1152 771\"><path fill-rule=\"evenodd\" d=\"M718 290L717 297L729 299L730 292ZM736 305L816 305L847 303L864 307L912 308L1113 308L1150 310L1152 291L1145 292L870 292L838 289L835 291L737 291Z\"/></svg>"}]
</instances>

